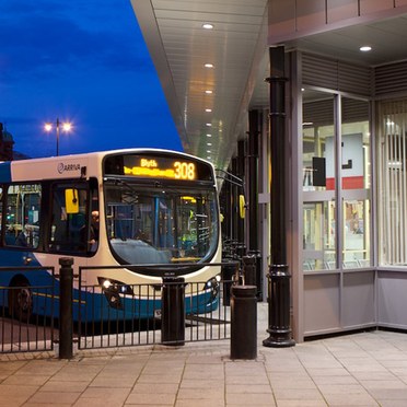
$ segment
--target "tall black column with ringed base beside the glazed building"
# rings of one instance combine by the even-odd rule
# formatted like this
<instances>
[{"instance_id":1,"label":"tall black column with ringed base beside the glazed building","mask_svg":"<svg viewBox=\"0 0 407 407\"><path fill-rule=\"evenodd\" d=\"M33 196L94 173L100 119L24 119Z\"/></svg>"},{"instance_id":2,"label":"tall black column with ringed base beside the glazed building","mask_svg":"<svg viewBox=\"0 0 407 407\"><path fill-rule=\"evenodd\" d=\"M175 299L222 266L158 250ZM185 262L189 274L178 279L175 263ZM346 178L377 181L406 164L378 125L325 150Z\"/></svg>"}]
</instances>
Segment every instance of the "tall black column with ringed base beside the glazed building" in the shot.
<instances>
[{"instance_id":1,"label":"tall black column with ringed base beside the glazed building","mask_svg":"<svg viewBox=\"0 0 407 407\"><path fill-rule=\"evenodd\" d=\"M286 73L284 47L269 49L270 57L270 219L271 265L268 272L268 322L269 338L266 347L290 347L295 345L290 327L290 274L287 265L286 230Z\"/></svg>"}]
</instances>

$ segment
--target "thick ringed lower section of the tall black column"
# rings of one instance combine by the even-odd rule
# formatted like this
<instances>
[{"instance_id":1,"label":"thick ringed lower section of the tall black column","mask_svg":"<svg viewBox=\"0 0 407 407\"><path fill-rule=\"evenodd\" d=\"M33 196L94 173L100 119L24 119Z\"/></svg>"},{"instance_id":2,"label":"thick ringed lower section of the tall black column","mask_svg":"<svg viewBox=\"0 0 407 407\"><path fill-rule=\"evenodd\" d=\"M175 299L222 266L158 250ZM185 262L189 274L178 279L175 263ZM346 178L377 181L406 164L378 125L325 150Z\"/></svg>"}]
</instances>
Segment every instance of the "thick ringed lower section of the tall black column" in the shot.
<instances>
[{"instance_id":1,"label":"thick ringed lower section of the tall black column","mask_svg":"<svg viewBox=\"0 0 407 407\"><path fill-rule=\"evenodd\" d=\"M270 348L294 346L290 327L290 275L288 266L270 266L268 278L268 329L263 345Z\"/></svg>"}]
</instances>

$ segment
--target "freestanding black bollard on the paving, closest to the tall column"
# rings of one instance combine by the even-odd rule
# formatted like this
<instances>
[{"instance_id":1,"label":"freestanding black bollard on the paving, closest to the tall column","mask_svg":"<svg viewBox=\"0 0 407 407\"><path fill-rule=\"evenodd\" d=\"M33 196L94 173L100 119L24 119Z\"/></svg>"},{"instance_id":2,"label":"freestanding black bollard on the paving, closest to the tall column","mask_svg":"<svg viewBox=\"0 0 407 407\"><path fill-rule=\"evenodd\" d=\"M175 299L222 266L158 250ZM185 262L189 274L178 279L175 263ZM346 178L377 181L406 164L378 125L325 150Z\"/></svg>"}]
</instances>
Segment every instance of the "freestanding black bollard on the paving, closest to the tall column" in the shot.
<instances>
[{"instance_id":1,"label":"freestanding black bollard on the paving, closest to the tall column","mask_svg":"<svg viewBox=\"0 0 407 407\"><path fill-rule=\"evenodd\" d=\"M256 286L233 286L231 299L231 359L257 357Z\"/></svg>"}]
</instances>

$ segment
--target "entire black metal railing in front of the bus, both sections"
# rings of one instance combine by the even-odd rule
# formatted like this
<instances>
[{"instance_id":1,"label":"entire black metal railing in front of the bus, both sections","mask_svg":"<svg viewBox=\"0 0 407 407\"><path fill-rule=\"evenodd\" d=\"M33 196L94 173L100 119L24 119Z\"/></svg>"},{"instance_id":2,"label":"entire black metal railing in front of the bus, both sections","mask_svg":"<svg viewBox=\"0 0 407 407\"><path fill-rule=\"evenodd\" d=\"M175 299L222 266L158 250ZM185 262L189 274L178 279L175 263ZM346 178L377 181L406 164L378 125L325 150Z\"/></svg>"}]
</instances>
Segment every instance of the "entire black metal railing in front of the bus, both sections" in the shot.
<instances>
[{"instance_id":1,"label":"entire black metal railing in front of the bus, both sections","mask_svg":"<svg viewBox=\"0 0 407 407\"><path fill-rule=\"evenodd\" d=\"M71 258L60 260L73 261ZM69 359L73 341L78 341L79 349L92 349L229 339L230 292L242 279L241 265L239 261L184 264L166 265L165 269L171 275L171 269L193 266L219 267L221 279L213 279L212 287L205 287L206 281L177 281L170 276L156 284L114 283L106 288L102 282L83 284L85 274L91 269L131 267L137 271L138 267L156 270L163 266L79 267L78 276L73 275L70 261L58 275L53 267L0 267L0 272L19 276L11 280L10 287L0 287L0 353L48 351L59 342L60 357L63 353L62 358ZM67 292L62 288L63 267L70 276L69 292L78 278L68 315L62 299ZM45 280L44 271L49 276ZM38 276L42 277L38 279ZM47 284L34 286L33 281ZM63 334L67 329L62 329L67 326L68 335ZM62 348L68 350L62 352Z\"/></svg>"}]
</instances>

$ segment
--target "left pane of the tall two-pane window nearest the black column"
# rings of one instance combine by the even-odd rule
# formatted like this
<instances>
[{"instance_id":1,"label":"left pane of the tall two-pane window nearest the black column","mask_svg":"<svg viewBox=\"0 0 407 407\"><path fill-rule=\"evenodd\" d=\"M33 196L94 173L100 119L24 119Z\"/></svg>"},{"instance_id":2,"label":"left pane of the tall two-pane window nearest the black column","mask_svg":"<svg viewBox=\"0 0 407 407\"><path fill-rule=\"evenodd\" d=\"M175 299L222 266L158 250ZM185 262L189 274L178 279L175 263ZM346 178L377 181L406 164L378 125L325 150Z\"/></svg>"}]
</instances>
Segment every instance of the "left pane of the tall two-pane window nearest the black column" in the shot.
<instances>
[{"instance_id":1,"label":"left pane of the tall two-pane window nearest the black column","mask_svg":"<svg viewBox=\"0 0 407 407\"><path fill-rule=\"evenodd\" d=\"M310 93L303 104L303 249L304 269L318 270L336 267L334 96Z\"/></svg>"}]
</instances>

